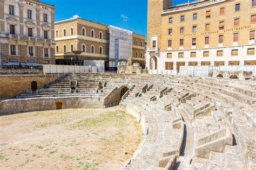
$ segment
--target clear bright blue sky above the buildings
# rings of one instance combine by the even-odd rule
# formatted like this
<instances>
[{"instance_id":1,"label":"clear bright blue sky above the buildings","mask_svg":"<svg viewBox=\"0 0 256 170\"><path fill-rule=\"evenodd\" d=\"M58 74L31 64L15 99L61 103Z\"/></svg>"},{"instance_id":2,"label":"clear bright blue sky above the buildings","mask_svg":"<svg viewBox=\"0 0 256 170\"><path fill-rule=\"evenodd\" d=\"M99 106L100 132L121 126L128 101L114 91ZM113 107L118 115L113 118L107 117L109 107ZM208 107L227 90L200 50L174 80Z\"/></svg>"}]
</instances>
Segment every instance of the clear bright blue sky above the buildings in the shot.
<instances>
[{"instance_id":1,"label":"clear bright blue sky above the buildings","mask_svg":"<svg viewBox=\"0 0 256 170\"><path fill-rule=\"evenodd\" d=\"M42 0L57 7L55 21L78 15L135 33L147 33L147 0ZM173 5L187 0L173 0Z\"/></svg>"}]
</instances>

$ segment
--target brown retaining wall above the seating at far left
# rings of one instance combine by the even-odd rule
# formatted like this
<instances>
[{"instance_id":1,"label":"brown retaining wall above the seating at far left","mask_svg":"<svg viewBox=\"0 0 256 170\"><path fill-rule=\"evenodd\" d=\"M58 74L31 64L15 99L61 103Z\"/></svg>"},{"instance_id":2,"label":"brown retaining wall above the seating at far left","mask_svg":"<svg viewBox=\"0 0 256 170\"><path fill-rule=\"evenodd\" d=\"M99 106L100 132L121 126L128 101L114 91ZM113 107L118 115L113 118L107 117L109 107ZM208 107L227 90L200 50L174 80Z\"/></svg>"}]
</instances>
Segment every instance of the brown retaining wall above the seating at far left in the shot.
<instances>
[{"instance_id":1,"label":"brown retaining wall above the seating at far left","mask_svg":"<svg viewBox=\"0 0 256 170\"><path fill-rule=\"evenodd\" d=\"M57 79L58 75L0 75L0 98L8 98L24 93L31 88L31 82L36 81L37 86L43 86ZM1 110L1 109L0 109Z\"/></svg>"}]
</instances>

